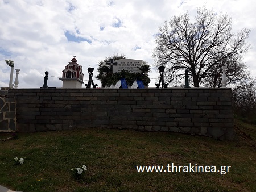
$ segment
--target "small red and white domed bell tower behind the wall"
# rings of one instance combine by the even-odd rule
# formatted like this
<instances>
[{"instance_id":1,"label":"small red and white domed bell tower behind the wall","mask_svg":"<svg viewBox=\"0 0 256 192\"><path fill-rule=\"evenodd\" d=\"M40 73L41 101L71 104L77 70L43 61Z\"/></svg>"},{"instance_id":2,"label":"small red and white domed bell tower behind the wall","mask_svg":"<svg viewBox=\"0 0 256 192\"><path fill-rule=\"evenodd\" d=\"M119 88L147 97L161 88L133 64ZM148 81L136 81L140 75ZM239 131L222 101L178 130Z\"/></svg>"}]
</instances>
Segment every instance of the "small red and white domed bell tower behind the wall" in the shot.
<instances>
[{"instance_id":1,"label":"small red and white domed bell tower behind the wall","mask_svg":"<svg viewBox=\"0 0 256 192\"><path fill-rule=\"evenodd\" d=\"M60 80L63 88L82 88L84 73L82 73L82 66L77 64L76 56L65 66Z\"/></svg>"}]
</instances>

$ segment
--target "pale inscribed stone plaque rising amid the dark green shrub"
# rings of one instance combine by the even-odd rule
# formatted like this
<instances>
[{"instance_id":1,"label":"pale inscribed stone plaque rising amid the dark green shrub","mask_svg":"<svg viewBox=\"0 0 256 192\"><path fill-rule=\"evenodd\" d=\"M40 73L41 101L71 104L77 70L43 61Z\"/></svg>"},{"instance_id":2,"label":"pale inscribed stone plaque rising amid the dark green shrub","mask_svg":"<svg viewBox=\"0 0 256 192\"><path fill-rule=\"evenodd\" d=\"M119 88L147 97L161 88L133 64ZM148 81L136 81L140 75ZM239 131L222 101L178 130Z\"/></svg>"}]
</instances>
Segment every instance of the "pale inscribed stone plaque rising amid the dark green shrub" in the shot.
<instances>
[{"instance_id":1,"label":"pale inscribed stone plaque rising amid the dark green shrub","mask_svg":"<svg viewBox=\"0 0 256 192\"><path fill-rule=\"evenodd\" d=\"M137 67L140 67L143 63L143 60L135 60L135 59L119 59L115 60L114 63L117 65L113 65L113 73L121 72L121 70L127 70L131 73L140 73Z\"/></svg>"}]
</instances>

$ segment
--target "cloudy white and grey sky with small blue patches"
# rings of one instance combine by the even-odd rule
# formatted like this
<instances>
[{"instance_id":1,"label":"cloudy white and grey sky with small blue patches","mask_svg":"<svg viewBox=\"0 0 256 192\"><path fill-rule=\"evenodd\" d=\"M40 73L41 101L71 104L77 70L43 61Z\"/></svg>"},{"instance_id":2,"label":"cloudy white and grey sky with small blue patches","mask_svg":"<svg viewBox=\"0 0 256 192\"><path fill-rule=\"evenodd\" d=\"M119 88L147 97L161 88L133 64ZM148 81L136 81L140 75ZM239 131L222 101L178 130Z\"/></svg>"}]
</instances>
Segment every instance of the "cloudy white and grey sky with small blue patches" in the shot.
<instances>
[{"instance_id":1,"label":"cloudy white and grey sky with small blue patches","mask_svg":"<svg viewBox=\"0 0 256 192\"><path fill-rule=\"evenodd\" d=\"M191 18L199 6L224 12L233 19L233 31L250 28L251 49L243 61L256 76L256 5L254 0L0 0L0 87L9 86L10 67L19 68L19 88L61 87L64 66L76 55L82 65L97 74L97 62L113 53L154 64L152 51L158 27L174 15L188 11ZM150 73L150 87L158 81ZM15 70L13 81L15 80ZM94 83L98 83L93 78ZM85 87L83 84L82 87Z\"/></svg>"}]
</instances>

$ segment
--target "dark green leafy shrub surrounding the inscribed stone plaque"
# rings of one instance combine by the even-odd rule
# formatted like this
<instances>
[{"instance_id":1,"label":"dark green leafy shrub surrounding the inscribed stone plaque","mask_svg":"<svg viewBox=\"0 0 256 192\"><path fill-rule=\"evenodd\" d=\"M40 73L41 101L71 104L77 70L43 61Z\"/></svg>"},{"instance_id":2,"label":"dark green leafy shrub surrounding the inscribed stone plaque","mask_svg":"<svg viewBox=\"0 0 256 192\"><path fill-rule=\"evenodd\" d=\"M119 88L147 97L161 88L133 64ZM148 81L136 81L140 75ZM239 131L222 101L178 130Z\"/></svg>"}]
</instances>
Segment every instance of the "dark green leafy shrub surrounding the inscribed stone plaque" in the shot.
<instances>
[{"instance_id":1,"label":"dark green leafy shrub surrounding the inscribed stone plaque","mask_svg":"<svg viewBox=\"0 0 256 192\"><path fill-rule=\"evenodd\" d=\"M139 68L141 70L141 73L131 73L126 70L122 70L118 73L110 73L110 66L104 65L103 62L109 62L110 59L119 60L119 59L127 59L125 55L115 55L110 57L106 57L103 61L98 62L98 68L97 68L97 76L96 78L98 80L101 80L102 86L110 86L115 85L117 81L119 81L121 78L125 78L127 85L133 85L133 82L136 80L142 80L144 85L150 84L150 78L148 77L148 74L145 74L146 72L150 72L150 65L147 64L147 62L143 61L143 65ZM104 72L106 74L104 75Z\"/></svg>"}]
</instances>

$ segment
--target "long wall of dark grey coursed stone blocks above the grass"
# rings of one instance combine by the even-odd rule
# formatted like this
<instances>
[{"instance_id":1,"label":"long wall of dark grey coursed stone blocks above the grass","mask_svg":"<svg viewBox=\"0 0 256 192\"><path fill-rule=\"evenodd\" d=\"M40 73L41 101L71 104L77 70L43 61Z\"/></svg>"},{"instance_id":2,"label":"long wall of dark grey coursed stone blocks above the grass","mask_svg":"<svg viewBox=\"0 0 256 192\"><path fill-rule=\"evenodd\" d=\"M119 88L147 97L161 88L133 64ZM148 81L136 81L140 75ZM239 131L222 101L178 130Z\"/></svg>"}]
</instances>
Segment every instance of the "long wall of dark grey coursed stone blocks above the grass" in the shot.
<instances>
[{"instance_id":1,"label":"long wall of dark grey coursed stone blocks above the grass","mask_svg":"<svg viewBox=\"0 0 256 192\"><path fill-rule=\"evenodd\" d=\"M231 89L11 89L20 132L132 128L234 139Z\"/></svg>"}]
</instances>

